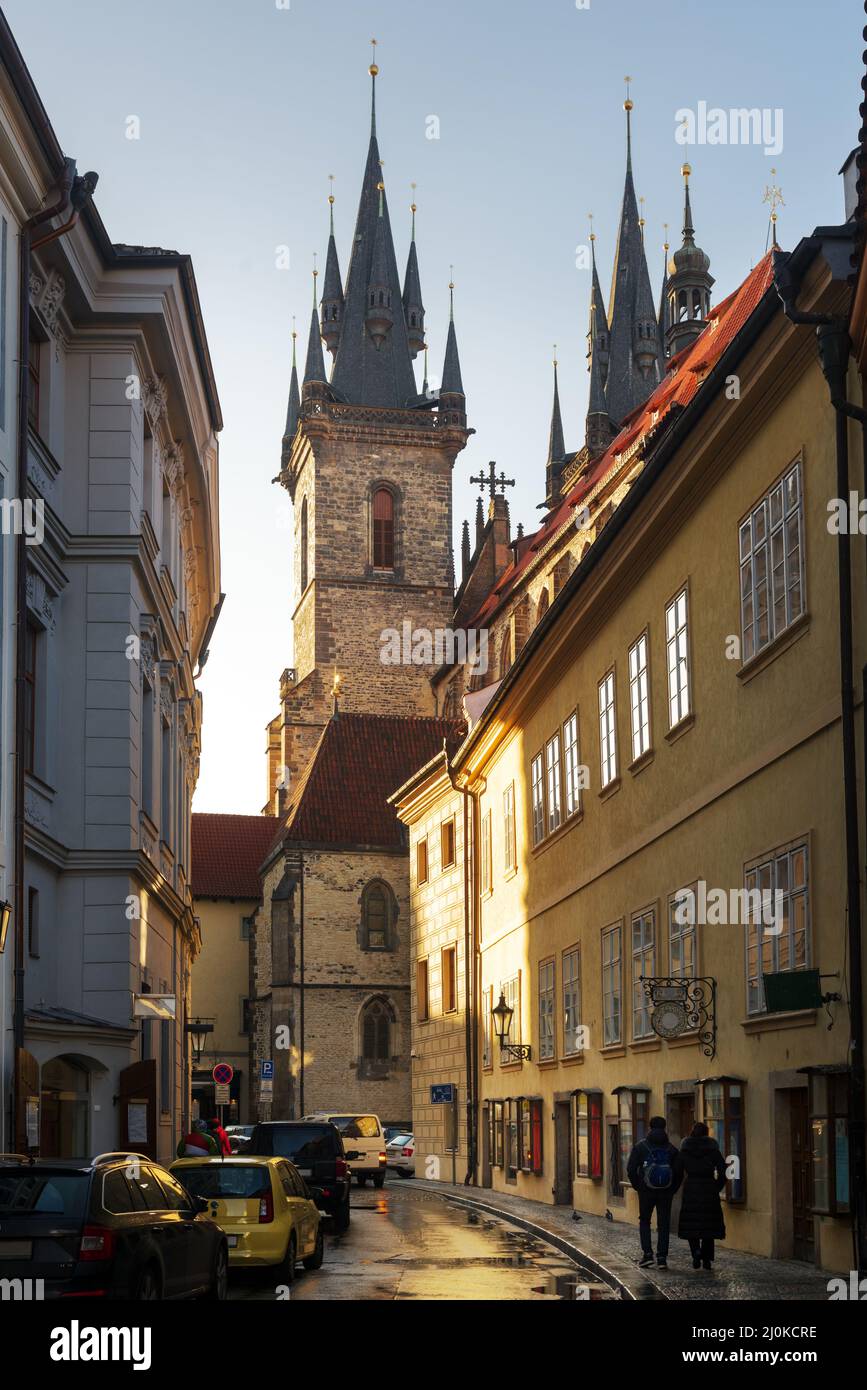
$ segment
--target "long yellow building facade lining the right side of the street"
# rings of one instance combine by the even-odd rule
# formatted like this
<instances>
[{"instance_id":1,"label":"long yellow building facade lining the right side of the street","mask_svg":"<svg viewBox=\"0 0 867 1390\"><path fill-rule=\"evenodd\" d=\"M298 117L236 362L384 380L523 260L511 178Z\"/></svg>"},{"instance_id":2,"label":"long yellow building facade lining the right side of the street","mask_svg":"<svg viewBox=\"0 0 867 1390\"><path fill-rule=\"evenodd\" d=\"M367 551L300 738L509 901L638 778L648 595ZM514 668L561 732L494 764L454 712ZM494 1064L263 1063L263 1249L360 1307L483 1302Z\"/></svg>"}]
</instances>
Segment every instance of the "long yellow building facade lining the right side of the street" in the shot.
<instances>
[{"instance_id":1,"label":"long yellow building facade lining the right side of the street","mask_svg":"<svg viewBox=\"0 0 867 1390\"><path fill-rule=\"evenodd\" d=\"M799 309L845 313L834 261L816 238L793 253ZM728 1244L849 1269L835 411L770 259L732 302L656 434L650 399L624 499L492 687L439 806L404 788L400 815L415 872L417 841L471 803L475 1179L636 1223L632 1144L652 1115L675 1143L702 1119L728 1158ZM863 824L857 528L850 549ZM417 959L446 901L413 880ZM414 1019L424 1056L432 1020ZM450 1031L438 1048L457 1049Z\"/></svg>"}]
</instances>

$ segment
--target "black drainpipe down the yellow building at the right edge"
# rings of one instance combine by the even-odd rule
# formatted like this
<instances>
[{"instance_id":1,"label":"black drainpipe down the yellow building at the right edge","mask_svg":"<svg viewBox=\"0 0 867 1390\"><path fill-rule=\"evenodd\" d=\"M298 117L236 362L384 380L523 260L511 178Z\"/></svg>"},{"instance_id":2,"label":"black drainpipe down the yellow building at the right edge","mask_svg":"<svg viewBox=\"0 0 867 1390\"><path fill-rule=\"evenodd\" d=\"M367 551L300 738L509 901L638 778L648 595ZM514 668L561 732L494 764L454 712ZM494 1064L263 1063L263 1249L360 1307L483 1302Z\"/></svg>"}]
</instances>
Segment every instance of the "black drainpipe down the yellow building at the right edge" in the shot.
<instances>
[{"instance_id":1,"label":"black drainpipe down the yellow building at the right edge","mask_svg":"<svg viewBox=\"0 0 867 1390\"><path fill-rule=\"evenodd\" d=\"M831 314L810 314L796 309L800 285L785 263L774 259L774 281L786 318L793 324L816 327L821 370L828 382L831 404L835 410L836 493L849 498L849 431L848 420L861 425L867 414L846 400L846 371L852 352L845 318ZM867 478L867 456L864 459ZM864 1005L861 988L861 884L859 865L859 810L854 746L854 689L852 644L852 546L849 531L838 535L838 594L841 642L841 703L843 742L843 815L846 844L848 947L849 947L849 1175L852 1184L852 1234L854 1265L859 1276L867 1268L867 1161L864 1127ZM864 698L864 689L863 689ZM866 720L867 734L867 720Z\"/></svg>"}]
</instances>

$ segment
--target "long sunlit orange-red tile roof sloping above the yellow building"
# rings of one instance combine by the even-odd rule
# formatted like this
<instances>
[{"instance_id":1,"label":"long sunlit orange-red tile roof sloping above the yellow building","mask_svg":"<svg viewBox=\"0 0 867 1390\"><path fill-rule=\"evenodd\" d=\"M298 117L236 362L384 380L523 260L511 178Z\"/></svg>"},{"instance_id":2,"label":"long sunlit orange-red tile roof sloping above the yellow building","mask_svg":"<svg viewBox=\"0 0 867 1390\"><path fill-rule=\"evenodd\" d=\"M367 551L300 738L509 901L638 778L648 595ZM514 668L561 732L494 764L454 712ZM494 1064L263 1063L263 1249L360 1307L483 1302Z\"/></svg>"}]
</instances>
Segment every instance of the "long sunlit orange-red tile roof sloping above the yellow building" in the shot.
<instances>
[{"instance_id":1,"label":"long sunlit orange-red tile roof sloping above the yellow building","mask_svg":"<svg viewBox=\"0 0 867 1390\"><path fill-rule=\"evenodd\" d=\"M495 587L488 594L475 614L467 620L465 627L484 627L496 613L502 603L520 587L527 569L534 563L540 549L547 546L550 539L563 530L564 525L574 525L575 507L579 507L609 475L614 474L620 464L616 455L621 455L629 445L641 441L652 430L656 430L671 407L686 406L702 379L711 367L717 364L732 339L741 332L759 302L764 297L774 281L773 252L768 252L759 264L749 272L743 284L735 289L728 299L711 309L707 328L688 348L684 348L677 357L667 363L666 377L653 395L638 406L627 417L620 434L611 441L603 455L589 467L588 473L575 484L571 492L549 512L536 532L524 537L517 549L517 563L513 562L500 575ZM653 416L657 416L653 420Z\"/></svg>"}]
</instances>

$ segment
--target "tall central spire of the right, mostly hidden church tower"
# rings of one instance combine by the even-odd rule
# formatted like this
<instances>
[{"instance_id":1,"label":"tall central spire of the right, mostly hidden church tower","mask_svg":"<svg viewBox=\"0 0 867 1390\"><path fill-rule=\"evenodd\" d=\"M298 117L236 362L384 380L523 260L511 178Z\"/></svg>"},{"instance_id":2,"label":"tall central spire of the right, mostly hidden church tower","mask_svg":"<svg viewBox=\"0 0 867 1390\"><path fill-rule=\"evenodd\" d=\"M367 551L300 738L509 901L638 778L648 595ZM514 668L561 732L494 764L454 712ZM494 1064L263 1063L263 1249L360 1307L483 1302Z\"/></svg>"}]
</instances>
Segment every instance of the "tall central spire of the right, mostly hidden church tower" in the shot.
<instances>
[{"instance_id":1,"label":"tall central spire of the right, mostly hidden church tower","mask_svg":"<svg viewBox=\"0 0 867 1390\"><path fill-rule=\"evenodd\" d=\"M627 113L627 178L624 185L610 302L610 356L606 400L611 423L620 423L647 399L659 384L659 324L638 200L632 182L632 101Z\"/></svg>"}]
</instances>

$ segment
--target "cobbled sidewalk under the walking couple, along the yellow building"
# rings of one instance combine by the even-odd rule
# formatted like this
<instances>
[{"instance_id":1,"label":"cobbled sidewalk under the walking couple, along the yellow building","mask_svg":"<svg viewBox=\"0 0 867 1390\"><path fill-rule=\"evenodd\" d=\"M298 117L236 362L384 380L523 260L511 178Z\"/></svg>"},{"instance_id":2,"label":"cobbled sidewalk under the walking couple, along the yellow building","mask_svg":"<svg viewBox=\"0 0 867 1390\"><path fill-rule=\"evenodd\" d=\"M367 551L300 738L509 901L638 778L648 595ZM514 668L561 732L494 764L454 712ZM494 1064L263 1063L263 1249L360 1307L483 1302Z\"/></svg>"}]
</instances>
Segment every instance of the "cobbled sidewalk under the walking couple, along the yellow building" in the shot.
<instances>
[{"instance_id":1,"label":"cobbled sidewalk under the walking couple, along the yellow building","mask_svg":"<svg viewBox=\"0 0 867 1390\"><path fill-rule=\"evenodd\" d=\"M447 1201L496 1212L517 1225L528 1223L552 1237L564 1254L589 1268L597 1277L618 1286L624 1298L828 1301L828 1280L834 1276L796 1259L764 1259L718 1245L713 1272L693 1270L686 1243L675 1236L671 1240L667 1272L639 1269L638 1226L628 1222L609 1222L588 1212L579 1212L581 1220L574 1220L568 1207L547 1207L486 1187L429 1183L421 1179L415 1179L413 1186Z\"/></svg>"}]
</instances>

